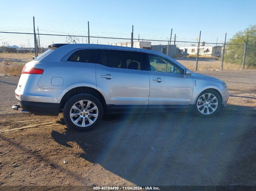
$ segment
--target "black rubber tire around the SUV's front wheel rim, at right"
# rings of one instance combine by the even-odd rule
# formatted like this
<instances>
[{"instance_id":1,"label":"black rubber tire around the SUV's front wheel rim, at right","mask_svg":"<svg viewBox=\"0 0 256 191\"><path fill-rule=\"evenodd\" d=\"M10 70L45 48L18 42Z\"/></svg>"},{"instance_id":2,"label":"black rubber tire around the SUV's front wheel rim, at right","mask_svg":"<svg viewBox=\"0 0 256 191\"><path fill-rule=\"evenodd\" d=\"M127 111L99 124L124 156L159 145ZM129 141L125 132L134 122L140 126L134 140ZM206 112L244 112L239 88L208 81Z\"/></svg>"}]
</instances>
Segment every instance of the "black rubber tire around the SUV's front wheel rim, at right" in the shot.
<instances>
[{"instance_id":1,"label":"black rubber tire around the SUV's front wheel rim, at right","mask_svg":"<svg viewBox=\"0 0 256 191\"><path fill-rule=\"evenodd\" d=\"M201 113L201 112L198 110L198 108L197 108L197 101L198 101L198 99L201 97L201 95L203 95L203 94L213 94L213 95L217 98L217 100L218 100L218 106L217 106L216 110L215 110L213 113L211 113L211 114L203 114L203 113ZM200 116L200 117L211 117L211 116L214 116L214 115L216 115L217 113L220 112L221 106L222 106L222 99L221 99L220 94L219 94L217 91L214 91L214 90L205 90L205 91L203 91L203 92L197 97L192 112L193 112L195 115ZM209 109L209 110L211 110L211 109Z\"/></svg>"}]
</instances>

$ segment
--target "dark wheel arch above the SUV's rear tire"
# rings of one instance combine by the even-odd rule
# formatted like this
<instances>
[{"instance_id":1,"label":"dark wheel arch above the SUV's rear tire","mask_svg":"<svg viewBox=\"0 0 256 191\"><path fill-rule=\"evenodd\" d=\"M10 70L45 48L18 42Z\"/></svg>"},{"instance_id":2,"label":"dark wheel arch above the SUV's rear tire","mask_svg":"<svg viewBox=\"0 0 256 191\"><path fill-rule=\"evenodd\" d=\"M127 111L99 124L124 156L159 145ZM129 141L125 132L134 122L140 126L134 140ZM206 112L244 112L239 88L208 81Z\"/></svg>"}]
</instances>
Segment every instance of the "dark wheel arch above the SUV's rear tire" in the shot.
<instances>
[{"instance_id":1,"label":"dark wheel arch above the SUV's rear tire","mask_svg":"<svg viewBox=\"0 0 256 191\"><path fill-rule=\"evenodd\" d=\"M68 92L66 92L64 94L64 96L61 99L60 102L60 110L63 109L66 101L73 95L76 94L80 94L80 93L86 93L86 94L91 94L95 97L97 97L97 99L101 102L103 110L105 110L105 106L106 106L106 101L104 96L95 88L91 88L91 87L86 87L86 86L80 86L80 87L76 87L76 88L72 88L71 90L69 90Z\"/></svg>"}]
</instances>

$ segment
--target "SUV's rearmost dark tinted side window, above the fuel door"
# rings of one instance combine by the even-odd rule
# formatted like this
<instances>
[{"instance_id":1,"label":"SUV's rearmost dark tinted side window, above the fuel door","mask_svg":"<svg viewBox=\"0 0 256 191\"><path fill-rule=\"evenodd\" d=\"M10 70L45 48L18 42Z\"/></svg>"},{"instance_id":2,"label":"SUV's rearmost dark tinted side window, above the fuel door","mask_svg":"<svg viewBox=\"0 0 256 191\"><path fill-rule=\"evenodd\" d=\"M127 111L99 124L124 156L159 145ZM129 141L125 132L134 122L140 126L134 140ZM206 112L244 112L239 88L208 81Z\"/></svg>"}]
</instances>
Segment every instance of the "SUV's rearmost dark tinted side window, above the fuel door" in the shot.
<instances>
[{"instance_id":1,"label":"SUV's rearmost dark tinted side window, above the fuel door","mask_svg":"<svg viewBox=\"0 0 256 191\"><path fill-rule=\"evenodd\" d=\"M68 61L96 63L98 49L84 49L74 52Z\"/></svg>"}]
</instances>

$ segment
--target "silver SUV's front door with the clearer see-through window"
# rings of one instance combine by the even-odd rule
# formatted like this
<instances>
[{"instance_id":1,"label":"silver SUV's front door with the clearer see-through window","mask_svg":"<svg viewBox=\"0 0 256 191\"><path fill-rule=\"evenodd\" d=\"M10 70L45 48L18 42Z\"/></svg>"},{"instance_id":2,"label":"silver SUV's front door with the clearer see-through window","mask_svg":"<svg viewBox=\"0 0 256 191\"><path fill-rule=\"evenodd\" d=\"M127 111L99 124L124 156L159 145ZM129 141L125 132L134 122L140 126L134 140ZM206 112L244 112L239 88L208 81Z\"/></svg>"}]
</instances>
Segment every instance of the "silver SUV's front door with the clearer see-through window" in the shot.
<instances>
[{"instance_id":1,"label":"silver SUV's front door with the clearer see-through window","mask_svg":"<svg viewBox=\"0 0 256 191\"><path fill-rule=\"evenodd\" d=\"M181 67L163 56L147 54L147 58L150 64L148 108L189 106L193 95L192 77L185 77Z\"/></svg>"}]
</instances>

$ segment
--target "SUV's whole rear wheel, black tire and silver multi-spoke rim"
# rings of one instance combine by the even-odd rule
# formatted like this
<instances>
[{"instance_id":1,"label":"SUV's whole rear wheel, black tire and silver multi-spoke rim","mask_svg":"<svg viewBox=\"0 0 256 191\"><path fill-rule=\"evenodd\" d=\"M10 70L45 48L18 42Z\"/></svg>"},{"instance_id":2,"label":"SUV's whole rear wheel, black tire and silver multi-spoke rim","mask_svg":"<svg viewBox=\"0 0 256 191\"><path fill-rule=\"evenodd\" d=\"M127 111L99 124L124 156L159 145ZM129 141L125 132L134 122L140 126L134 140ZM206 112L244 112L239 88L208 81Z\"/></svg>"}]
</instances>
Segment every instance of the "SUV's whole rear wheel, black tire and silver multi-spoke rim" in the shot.
<instances>
[{"instance_id":1,"label":"SUV's whole rear wheel, black tire and silver multi-spoke rim","mask_svg":"<svg viewBox=\"0 0 256 191\"><path fill-rule=\"evenodd\" d=\"M63 117L68 127L86 131L97 126L103 116L101 102L90 94L76 94L68 99Z\"/></svg>"}]
</instances>

